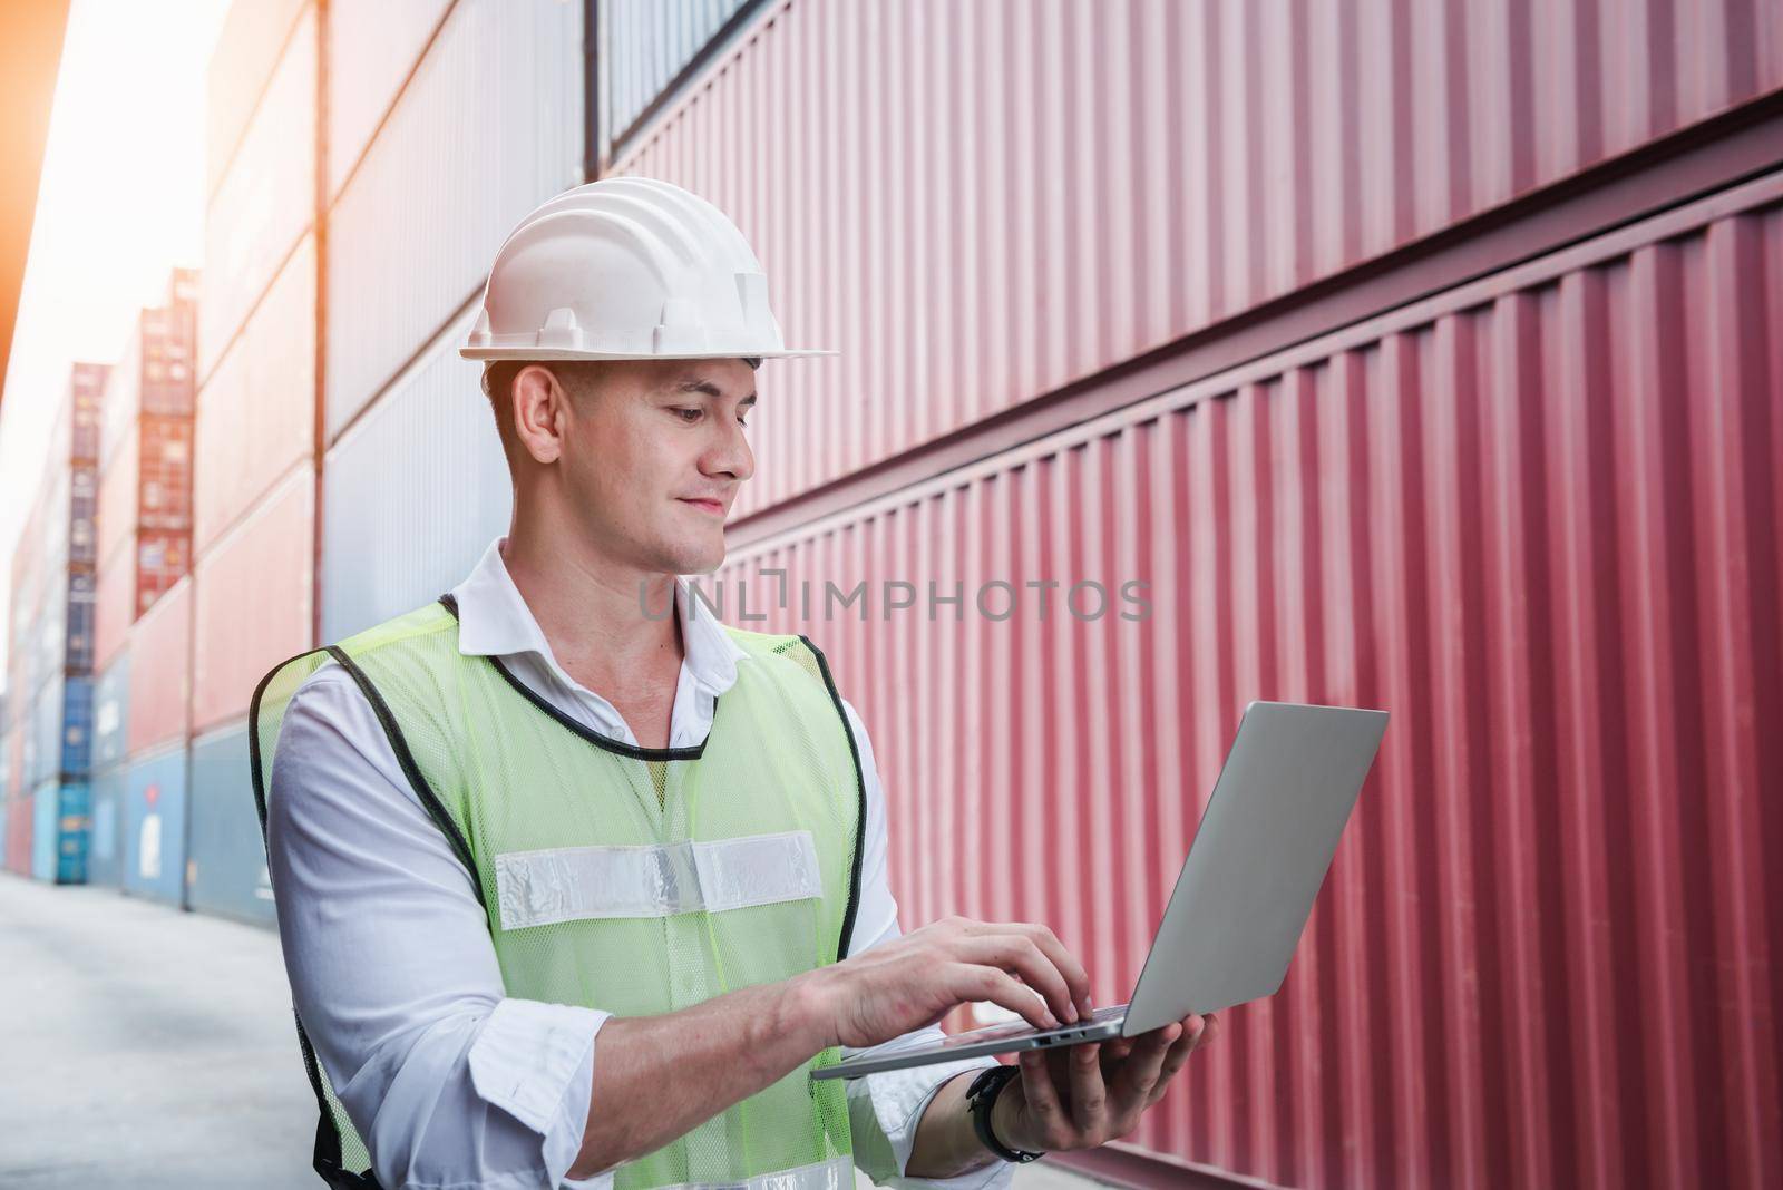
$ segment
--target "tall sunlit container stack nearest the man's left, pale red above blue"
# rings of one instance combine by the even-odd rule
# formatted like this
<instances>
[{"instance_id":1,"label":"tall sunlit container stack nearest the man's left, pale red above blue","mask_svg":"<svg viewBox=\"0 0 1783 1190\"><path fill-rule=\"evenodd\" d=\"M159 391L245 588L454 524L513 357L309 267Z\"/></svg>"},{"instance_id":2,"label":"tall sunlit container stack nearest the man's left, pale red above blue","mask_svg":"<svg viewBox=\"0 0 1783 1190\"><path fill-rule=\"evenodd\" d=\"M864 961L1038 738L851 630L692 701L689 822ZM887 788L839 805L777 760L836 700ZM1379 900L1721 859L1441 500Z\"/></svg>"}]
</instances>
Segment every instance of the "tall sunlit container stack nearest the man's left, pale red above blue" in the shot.
<instances>
[{"instance_id":1,"label":"tall sunlit container stack nearest the man's left, pale red above blue","mask_svg":"<svg viewBox=\"0 0 1783 1190\"><path fill-rule=\"evenodd\" d=\"M251 921L273 900L248 700L314 632L319 34L314 4L237 4L209 78L184 896Z\"/></svg>"}]
</instances>

